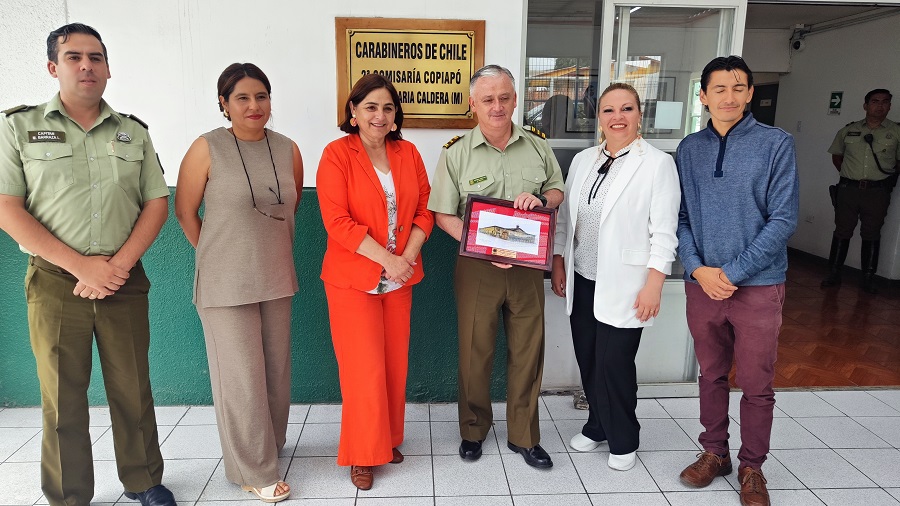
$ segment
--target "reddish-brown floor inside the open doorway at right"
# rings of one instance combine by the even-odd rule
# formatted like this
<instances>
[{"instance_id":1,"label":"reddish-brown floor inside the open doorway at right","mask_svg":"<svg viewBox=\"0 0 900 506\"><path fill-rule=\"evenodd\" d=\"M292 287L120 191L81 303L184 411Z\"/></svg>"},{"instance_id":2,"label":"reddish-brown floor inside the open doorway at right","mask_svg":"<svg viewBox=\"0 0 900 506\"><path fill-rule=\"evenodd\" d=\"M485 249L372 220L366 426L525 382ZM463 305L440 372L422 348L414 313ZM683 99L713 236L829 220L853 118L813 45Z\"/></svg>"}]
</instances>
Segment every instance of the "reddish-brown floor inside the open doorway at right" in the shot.
<instances>
[{"instance_id":1,"label":"reddish-brown floor inside the open doorway at right","mask_svg":"<svg viewBox=\"0 0 900 506\"><path fill-rule=\"evenodd\" d=\"M823 289L824 260L791 252L784 321L778 338L776 388L900 385L900 288L880 280L879 293L859 286L859 271ZM732 370L734 385L734 370Z\"/></svg>"}]
</instances>

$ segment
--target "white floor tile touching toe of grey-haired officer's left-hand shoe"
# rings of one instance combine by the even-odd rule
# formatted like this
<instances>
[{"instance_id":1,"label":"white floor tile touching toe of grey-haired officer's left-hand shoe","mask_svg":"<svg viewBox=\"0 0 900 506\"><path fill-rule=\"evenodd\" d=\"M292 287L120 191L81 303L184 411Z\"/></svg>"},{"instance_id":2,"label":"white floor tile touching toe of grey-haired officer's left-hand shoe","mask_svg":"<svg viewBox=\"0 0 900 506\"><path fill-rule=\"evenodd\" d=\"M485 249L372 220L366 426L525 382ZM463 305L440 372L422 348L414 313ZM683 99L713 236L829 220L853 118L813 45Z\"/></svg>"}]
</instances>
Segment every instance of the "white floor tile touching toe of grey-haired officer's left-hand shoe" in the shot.
<instances>
[{"instance_id":1,"label":"white floor tile touching toe of grey-haired officer's left-hand shoe","mask_svg":"<svg viewBox=\"0 0 900 506\"><path fill-rule=\"evenodd\" d=\"M475 462L455 455L435 456L434 493L438 496L510 495L499 455L483 455Z\"/></svg>"}]
</instances>

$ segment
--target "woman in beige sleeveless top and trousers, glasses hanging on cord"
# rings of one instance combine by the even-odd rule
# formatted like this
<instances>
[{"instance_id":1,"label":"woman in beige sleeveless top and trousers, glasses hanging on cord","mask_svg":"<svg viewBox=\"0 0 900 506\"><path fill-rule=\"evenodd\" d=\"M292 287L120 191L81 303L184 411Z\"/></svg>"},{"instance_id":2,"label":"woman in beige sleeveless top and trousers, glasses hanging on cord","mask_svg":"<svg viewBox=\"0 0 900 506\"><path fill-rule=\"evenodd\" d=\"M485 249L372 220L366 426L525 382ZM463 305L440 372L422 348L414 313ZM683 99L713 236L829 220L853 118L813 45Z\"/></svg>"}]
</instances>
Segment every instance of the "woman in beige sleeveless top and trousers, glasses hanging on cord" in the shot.
<instances>
[{"instance_id":1,"label":"woman in beige sleeveless top and trousers, glasses hanging on cord","mask_svg":"<svg viewBox=\"0 0 900 506\"><path fill-rule=\"evenodd\" d=\"M297 144L265 128L272 88L258 67L230 65L218 91L231 128L191 145L178 174L175 215L197 250L194 304L225 476L277 502L290 495L278 452L290 408L294 213L303 161Z\"/></svg>"}]
</instances>

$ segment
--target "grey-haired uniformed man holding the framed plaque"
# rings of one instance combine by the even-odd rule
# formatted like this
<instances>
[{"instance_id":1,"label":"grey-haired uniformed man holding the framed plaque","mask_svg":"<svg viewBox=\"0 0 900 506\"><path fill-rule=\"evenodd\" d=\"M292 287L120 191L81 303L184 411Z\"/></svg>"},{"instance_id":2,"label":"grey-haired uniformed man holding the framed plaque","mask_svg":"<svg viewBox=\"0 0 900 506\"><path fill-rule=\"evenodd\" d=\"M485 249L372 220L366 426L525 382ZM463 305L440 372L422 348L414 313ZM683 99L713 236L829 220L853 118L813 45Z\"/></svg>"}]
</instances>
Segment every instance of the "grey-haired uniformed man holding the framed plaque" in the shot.
<instances>
[{"instance_id":1,"label":"grey-haired uniformed man holding the framed plaque","mask_svg":"<svg viewBox=\"0 0 900 506\"><path fill-rule=\"evenodd\" d=\"M515 80L509 70L488 65L469 83L469 105L478 126L448 142L441 151L428 208L435 222L460 240L469 194L513 202L531 210L562 203L559 164L543 134L512 122ZM481 456L491 429L490 379L503 311L509 347L506 419L507 446L533 467L553 465L540 446L538 394L544 364L543 271L458 257L455 274L459 324L459 455Z\"/></svg>"}]
</instances>

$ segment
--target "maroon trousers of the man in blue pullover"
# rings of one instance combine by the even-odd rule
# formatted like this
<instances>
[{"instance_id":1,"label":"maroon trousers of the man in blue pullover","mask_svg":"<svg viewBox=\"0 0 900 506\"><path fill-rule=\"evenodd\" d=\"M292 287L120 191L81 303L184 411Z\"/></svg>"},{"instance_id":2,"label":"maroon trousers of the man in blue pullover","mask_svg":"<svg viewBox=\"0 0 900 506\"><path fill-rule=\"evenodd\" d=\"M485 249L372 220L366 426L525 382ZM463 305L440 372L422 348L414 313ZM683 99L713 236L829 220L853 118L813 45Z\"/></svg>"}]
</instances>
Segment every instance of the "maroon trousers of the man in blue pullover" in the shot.
<instances>
[{"instance_id":1,"label":"maroon trousers of the man in blue pullover","mask_svg":"<svg viewBox=\"0 0 900 506\"><path fill-rule=\"evenodd\" d=\"M688 328L700 362L700 444L728 453L728 373L737 362L741 397L740 467L759 469L769 453L775 409L775 359L784 305L784 284L742 286L725 300L712 300L686 282Z\"/></svg>"}]
</instances>

